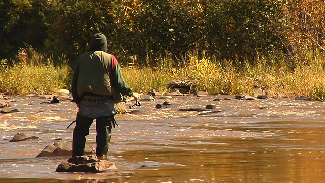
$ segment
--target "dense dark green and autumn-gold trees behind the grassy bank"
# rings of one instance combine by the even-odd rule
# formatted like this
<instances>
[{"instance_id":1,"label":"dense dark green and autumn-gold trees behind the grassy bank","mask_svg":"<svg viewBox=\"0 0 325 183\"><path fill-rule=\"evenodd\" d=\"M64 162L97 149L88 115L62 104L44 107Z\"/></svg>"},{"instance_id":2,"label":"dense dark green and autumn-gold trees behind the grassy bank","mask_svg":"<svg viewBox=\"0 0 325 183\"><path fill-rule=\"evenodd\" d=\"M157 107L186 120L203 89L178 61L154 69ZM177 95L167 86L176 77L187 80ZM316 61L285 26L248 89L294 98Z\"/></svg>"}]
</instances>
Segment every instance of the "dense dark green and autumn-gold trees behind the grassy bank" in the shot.
<instances>
[{"instance_id":1,"label":"dense dark green and autumn-gold trees behind the grassy bank","mask_svg":"<svg viewBox=\"0 0 325 183\"><path fill-rule=\"evenodd\" d=\"M193 52L242 66L280 56L294 70L325 50L322 0L6 0L0 10L0 59L10 61L26 43L74 65L98 32L122 64L141 67L165 57L184 67Z\"/></svg>"}]
</instances>

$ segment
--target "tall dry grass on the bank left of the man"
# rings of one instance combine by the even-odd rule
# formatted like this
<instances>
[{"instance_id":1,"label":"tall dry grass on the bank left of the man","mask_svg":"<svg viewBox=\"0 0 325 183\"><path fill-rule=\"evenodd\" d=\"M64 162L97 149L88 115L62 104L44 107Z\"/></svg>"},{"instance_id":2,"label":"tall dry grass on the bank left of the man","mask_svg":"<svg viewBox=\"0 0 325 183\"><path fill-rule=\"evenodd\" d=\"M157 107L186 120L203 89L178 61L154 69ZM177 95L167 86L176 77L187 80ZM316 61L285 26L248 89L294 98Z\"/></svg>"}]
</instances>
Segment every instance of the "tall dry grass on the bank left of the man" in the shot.
<instances>
[{"instance_id":1,"label":"tall dry grass on the bank left of the man","mask_svg":"<svg viewBox=\"0 0 325 183\"><path fill-rule=\"evenodd\" d=\"M21 48L13 65L2 60L0 92L11 95L51 94L58 88L69 88L70 67L61 59L54 66L51 57L38 53L31 46Z\"/></svg>"}]
</instances>

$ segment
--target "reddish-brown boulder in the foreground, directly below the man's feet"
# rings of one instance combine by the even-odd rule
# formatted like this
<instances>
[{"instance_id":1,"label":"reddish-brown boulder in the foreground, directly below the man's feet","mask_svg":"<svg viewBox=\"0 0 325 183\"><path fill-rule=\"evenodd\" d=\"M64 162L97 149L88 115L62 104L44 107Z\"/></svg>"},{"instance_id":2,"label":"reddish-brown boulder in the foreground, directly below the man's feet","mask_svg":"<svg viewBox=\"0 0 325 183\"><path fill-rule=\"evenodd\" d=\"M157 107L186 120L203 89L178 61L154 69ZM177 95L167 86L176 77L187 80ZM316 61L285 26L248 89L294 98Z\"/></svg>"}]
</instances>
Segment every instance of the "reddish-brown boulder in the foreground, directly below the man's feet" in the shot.
<instances>
[{"instance_id":1,"label":"reddish-brown boulder in the foreground, directly below the man's feet","mask_svg":"<svg viewBox=\"0 0 325 183\"><path fill-rule=\"evenodd\" d=\"M77 156L62 162L55 172L91 172L99 173L107 170L116 170L114 162L99 160L95 155Z\"/></svg>"}]
</instances>

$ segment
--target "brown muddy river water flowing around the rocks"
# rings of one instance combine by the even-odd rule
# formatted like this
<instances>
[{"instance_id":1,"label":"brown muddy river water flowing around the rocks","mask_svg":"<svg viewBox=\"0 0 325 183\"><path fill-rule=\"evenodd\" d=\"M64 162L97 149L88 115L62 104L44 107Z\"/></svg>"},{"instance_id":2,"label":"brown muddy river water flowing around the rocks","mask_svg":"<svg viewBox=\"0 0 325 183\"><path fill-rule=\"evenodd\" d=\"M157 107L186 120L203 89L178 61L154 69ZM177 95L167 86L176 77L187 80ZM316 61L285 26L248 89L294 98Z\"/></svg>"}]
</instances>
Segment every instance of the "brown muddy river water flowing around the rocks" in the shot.
<instances>
[{"instance_id":1,"label":"brown muddy river water flowing around the rocks","mask_svg":"<svg viewBox=\"0 0 325 183\"><path fill-rule=\"evenodd\" d=\"M141 101L116 117L110 173L55 173L69 157L35 158L72 140L74 103L16 97L18 113L0 114L0 182L325 182L325 103L294 99L221 100L178 96ZM172 106L155 109L168 101ZM126 103L132 106L134 101ZM183 112L216 104L219 113ZM201 114L201 115L198 115ZM39 139L9 142L23 132ZM87 138L95 147L95 123Z\"/></svg>"}]
</instances>

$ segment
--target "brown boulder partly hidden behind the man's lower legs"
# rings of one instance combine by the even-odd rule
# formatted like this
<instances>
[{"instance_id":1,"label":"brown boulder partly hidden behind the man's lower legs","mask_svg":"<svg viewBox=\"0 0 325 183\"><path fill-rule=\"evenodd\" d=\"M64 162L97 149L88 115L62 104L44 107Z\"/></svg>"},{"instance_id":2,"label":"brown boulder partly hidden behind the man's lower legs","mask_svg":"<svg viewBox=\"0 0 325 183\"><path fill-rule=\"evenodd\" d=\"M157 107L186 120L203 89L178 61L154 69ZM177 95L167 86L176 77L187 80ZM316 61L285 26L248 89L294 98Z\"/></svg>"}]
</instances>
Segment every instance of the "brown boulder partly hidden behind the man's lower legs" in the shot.
<instances>
[{"instance_id":1,"label":"brown boulder partly hidden behind the man's lower legs","mask_svg":"<svg viewBox=\"0 0 325 183\"><path fill-rule=\"evenodd\" d=\"M96 150L94 147L86 145L85 155L95 154ZM56 157L56 156L72 156L72 142L61 141L54 142L53 144L47 145L40 154L36 156L39 157Z\"/></svg>"}]
</instances>

